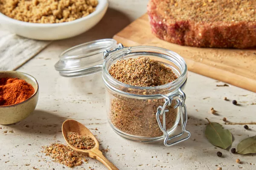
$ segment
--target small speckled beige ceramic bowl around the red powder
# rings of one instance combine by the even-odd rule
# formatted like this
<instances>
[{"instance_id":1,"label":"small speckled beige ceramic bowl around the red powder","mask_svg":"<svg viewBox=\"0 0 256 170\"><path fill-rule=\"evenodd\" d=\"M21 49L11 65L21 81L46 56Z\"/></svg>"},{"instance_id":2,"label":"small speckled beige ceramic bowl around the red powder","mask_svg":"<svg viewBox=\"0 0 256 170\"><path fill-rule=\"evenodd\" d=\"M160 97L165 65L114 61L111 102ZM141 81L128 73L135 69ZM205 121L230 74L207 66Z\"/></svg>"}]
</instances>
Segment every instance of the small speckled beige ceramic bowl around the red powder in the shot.
<instances>
[{"instance_id":1,"label":"small speckled beige ceramic bowl around the red powder","mask_svg":"<svg viewBox=\"0 0 256 170\"><path fill-rule=\"evenodd\" d=\"M26 73L18 71L0 71L0 78L3 77L23 79L35 89L35 93L24 102L16 105L0 106L0 125L9 125L20 122L35 110L38 102L39 88L36 79Z\"/></svg>"}]
</instances>

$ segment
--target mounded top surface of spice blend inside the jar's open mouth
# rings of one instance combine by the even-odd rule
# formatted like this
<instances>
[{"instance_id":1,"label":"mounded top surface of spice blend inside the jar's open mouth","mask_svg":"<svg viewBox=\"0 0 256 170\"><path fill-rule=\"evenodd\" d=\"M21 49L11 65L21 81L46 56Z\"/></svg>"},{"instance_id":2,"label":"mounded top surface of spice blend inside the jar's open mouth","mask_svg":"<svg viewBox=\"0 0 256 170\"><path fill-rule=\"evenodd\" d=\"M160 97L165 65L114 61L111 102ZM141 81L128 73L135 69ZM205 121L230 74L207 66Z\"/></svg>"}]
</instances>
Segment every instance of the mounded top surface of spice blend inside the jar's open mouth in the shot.
<instances>
[{"instance_id":1,"label":"mounded top surface of spice blend inside the jar's open mouth","mask_svg":"<svg viewBox=\"0 0 256 170\"><path fill-rule=\"evenodd\" d=\"M165 85L177 79L171 68L148 57L118 60L109 73L120 82L140 87Z\"/></svg>"}]
</instances>

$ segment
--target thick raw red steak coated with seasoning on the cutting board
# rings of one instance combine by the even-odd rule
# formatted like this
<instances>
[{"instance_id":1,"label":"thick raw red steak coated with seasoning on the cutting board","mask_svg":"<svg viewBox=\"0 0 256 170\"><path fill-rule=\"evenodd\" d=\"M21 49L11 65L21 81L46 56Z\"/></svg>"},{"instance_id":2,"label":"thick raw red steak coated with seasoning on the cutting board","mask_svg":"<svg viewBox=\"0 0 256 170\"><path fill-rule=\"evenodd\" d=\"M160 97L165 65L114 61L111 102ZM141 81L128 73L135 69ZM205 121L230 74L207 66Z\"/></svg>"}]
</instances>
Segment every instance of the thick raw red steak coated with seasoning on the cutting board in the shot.
<instances>
[{"instance_id":1,"label":"thick raw red steak coated with seasoning on the cutting board","mask_svg":"<svg viewBox=\"0 0 256 170\"><path fill-rule=\"evenodd\" d=\"M256 47L256 0L149 0L151 30L194 47Z\"/></svg>"}]
</instances>

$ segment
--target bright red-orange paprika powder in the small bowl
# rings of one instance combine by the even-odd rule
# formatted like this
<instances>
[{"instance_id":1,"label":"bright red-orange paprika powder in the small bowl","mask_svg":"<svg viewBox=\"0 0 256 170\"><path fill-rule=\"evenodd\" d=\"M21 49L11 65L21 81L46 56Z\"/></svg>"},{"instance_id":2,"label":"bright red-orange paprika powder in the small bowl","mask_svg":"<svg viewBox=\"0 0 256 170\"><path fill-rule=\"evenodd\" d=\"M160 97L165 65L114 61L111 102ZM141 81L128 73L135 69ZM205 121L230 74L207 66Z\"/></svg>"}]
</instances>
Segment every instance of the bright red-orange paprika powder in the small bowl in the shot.
<instances>
[{"instance_id":1,"label":"bright red-orange paprika powder in the small bowl","mask_svg":"<svg viewBox=\"0 0 256 170\"><path fill-rule=\"evenodd\" d=\"M0 78L0 106L15 105L29 99L35 90L18 78Z\"/></svg>"}]
</instances>

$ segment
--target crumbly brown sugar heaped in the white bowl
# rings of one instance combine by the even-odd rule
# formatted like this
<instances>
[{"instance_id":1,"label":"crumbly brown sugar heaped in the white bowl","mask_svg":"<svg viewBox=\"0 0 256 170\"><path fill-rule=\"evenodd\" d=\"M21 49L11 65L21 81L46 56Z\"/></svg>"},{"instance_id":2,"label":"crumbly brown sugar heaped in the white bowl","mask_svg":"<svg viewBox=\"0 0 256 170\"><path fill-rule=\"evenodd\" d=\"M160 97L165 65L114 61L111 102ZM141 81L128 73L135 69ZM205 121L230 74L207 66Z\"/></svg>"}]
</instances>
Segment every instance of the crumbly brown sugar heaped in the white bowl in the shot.
<instances>
[{"instance_id":1,"label":"crumbly brown sugar heaped in the white bowl","mask_svg":"<svg viewBox=\"0 0 256 170\"><path fill-rule=\"evenodd\" d=\"M98 0L0 0L0 12L29 23L63 23L95 11Z\"/></svg>"}]
</instances>

